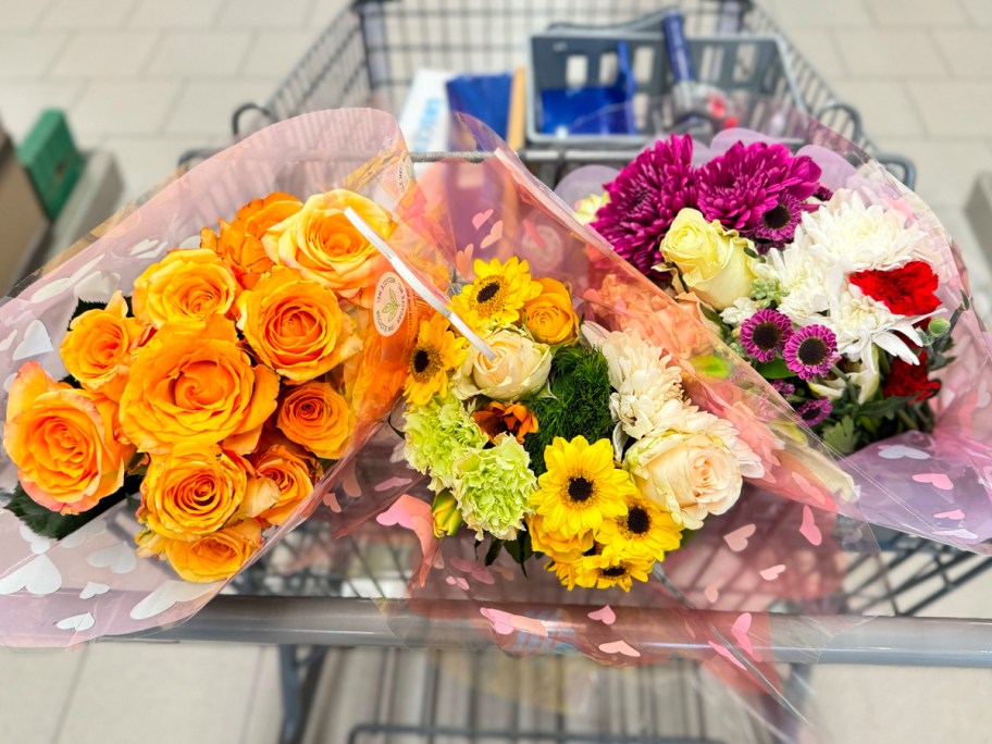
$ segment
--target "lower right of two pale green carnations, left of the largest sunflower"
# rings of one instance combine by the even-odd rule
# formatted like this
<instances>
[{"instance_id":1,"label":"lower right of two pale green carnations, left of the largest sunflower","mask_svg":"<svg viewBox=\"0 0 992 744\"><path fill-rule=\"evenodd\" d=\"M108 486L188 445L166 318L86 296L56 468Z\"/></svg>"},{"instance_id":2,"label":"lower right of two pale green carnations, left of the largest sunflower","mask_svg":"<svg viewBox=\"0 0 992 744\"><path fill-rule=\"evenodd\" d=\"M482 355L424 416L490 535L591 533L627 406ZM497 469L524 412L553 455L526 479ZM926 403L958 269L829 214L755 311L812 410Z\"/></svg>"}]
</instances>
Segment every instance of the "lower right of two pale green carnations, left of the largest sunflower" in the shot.
<instances>
[{"instance_id":1,"label":"lower right of two pale green carnations, left of the largest sunflower","mask_svg":"<svg viewBox=\"0 0 992 744\"><path fill-rule=\"evenodd\" d=\"M537 479L531 457L509 434L491 449L479 449L455 466L455 498L466 524L482 537L513 540L530 512Z\"/></svg>"}]
</instances>

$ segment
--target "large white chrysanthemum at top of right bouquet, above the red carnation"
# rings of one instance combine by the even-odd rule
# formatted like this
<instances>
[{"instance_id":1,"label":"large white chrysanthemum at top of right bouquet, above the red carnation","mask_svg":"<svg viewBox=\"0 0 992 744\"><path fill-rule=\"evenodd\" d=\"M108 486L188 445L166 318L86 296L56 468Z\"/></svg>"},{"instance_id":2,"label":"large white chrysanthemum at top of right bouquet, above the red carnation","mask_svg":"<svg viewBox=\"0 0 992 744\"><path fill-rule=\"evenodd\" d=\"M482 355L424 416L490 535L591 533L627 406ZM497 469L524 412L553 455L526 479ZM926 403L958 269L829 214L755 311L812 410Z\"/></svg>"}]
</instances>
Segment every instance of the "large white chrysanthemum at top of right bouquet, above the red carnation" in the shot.
<instances>
[{"instance_id":1,"label":"large white chrysanthemum at top of right bouquet, above the red carnation","mask_svg":"<svg viewBox=\"0 0 992 744\"><path fill-rule=\"evenodd\" d=\"M856 191L839 189L815 212L807 212L795 232L793 249L826 269L828 295L844 278L865 269L886 271L928 258L928 237L905 214L881 204L866 204Z\"/></svg>"}]
</instances>

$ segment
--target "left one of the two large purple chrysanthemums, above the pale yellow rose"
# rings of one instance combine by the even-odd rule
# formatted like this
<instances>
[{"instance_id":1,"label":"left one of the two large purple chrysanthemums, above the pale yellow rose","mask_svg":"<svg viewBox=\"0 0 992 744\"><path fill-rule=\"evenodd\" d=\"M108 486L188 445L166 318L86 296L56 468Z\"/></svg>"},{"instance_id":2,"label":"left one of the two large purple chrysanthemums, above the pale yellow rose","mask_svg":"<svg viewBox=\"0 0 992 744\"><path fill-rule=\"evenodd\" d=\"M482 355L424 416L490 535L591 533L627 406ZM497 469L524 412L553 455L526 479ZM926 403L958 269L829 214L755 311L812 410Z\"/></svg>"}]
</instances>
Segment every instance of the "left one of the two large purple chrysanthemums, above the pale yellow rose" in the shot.
<instances>
[{"instance_id":1,"label":"left one of the two large purple chrysanthemums, above the pale yellow rose","mask_svg":"<svg viewBox=\"0 0 992 744\"><path fill-rule=\"evenodd\" d=\"M605 186L610 200L592 227L644 274L661 261L659 244L675 215L696 206L692 151L692 137L659 140Z\"/></svg>"}]
</instances>

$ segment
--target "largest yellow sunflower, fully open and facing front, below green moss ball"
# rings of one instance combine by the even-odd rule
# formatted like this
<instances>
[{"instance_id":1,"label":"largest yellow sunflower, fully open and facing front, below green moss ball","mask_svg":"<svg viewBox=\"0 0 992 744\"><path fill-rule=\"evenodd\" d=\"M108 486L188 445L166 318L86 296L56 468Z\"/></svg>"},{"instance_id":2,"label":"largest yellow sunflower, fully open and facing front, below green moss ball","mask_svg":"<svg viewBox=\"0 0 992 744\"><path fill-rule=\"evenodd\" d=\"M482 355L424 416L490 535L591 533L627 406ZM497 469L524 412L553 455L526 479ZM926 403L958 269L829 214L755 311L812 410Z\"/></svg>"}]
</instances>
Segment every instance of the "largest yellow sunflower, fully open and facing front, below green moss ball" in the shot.
<instances>
[{"instance_id":1,"label":"largest yellow sunflower, fully open and facing front, below green moss ball","mask_svg":"<svg viewBox=\"0 0 992 744\"><path fill-rule=\"evenodd\" d=\"M571 442L556 436L544 448L544 462L547 472L537 479L531 506L544 518L545 531L578 537L627 511L624 497L634 484L613 467L609 439L591 445L584 436Z\"/></svg>"}]
</instances>

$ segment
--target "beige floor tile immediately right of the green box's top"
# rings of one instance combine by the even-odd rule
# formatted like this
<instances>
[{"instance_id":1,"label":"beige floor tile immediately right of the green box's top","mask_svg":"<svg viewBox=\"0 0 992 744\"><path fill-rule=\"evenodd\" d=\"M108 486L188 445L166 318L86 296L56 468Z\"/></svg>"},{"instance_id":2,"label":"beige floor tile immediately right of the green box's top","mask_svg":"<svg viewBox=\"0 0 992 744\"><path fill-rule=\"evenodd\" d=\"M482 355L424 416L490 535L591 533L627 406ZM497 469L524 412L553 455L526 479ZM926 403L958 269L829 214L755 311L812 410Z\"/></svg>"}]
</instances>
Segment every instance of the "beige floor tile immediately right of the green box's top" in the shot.
<instances>
[{"instance_id":1,"label":"beige floor tile immediately right of the green box's top","mask_svg":"<svg viewBox=\"0 0 992 744\"><path fill-rule=\"evenodd\" d=\"M72 108L73 122L80 133L159 134L181 88L153 80L92 83Z\"/></svg>"}]
</instances>

